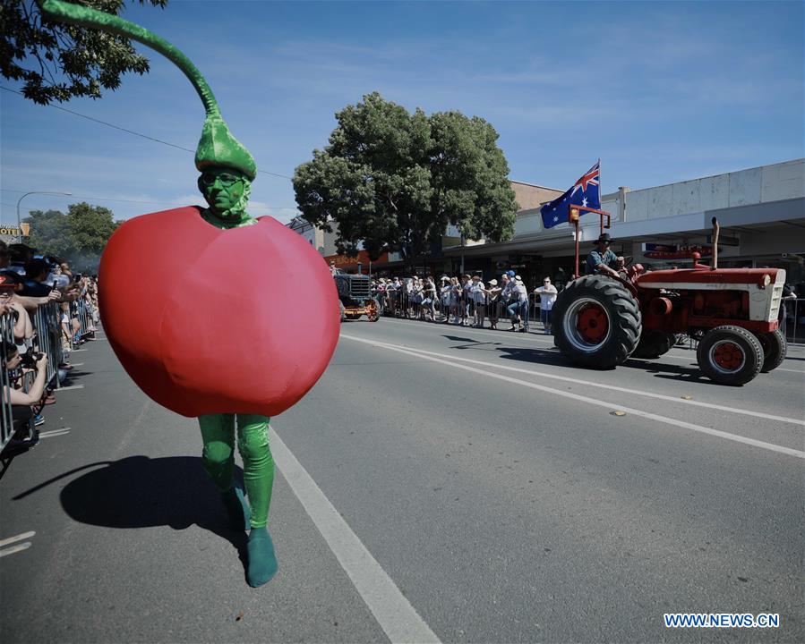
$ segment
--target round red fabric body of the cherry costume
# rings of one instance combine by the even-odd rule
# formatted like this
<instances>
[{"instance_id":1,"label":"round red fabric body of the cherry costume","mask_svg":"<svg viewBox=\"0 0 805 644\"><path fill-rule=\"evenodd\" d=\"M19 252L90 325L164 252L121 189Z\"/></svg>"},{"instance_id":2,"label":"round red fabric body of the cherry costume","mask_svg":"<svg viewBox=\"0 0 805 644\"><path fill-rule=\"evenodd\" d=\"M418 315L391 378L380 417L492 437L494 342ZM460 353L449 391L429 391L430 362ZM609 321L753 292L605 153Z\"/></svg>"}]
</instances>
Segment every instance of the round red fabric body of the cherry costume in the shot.
<instances>
[{"instance_id":1,"label":"round red fabric body of the cherry costume","mask_svg":"<svg viewBox=\"0 0 805 644\"><path fill-rule=\"evenodd\" d=\"M269 216L229 230L196 207L135 217L109 240L98 283L124 369L183 416L276 416L313 387L338 343L330 269Z\"/></svg>"}]
</instances>

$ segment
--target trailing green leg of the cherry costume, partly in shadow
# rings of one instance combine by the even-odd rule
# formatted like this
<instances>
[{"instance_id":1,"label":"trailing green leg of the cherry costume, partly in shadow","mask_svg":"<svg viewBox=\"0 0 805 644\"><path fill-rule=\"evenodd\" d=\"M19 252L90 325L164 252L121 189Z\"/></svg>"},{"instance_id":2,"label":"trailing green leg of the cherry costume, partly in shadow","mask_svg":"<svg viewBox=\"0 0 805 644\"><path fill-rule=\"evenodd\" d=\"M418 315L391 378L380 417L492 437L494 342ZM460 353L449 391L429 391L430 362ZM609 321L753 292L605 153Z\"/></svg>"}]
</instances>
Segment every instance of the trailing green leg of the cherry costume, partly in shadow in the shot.
<instances>
[{"instance_id":1,"label":"trailing green leg of the cherry costume, partly in shadow","mask_svg":"<svg viewBox=\"0 0 805 644\"><path fill-rule=\"evenodd\" d=\"M247 530L251 513L244 492L235 485L235 417L232 414L210 414L199 417L204 443L201 462L221 492L232 530Z\"/></svg>"}]
</instances>

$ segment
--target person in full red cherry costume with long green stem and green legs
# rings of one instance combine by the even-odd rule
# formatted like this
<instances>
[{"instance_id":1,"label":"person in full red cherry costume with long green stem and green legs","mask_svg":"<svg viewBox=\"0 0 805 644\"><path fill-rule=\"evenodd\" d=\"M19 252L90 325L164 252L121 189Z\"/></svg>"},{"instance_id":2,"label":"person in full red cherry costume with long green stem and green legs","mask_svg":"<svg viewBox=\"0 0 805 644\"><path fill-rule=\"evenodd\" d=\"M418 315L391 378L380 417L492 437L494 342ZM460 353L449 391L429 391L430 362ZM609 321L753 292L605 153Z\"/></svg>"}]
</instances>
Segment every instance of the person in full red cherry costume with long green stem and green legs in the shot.
<instances>
[{"instance_id":1,"label":"person in full red cherry costume with long green stem and green legs","mask_svg":"<svg viewBox=\"0 0 805 644\"><path fill-rule=\"evenodd\" d=\"M301 236L271 217L249 216L257 165L182 52L116 15L57 0L42 10L153 47L179 66L204 104L195 165L208 208L120 226L101 259L99 302L107 337L134 382L168 409L198 417L202 465L232 528L251 528L246 580L261 586L278 568L266 527L274 481L269 417L304 396L335 350L330 270ZM236 426L248 504L234 479Z\"/></svg>"}]
</instances>

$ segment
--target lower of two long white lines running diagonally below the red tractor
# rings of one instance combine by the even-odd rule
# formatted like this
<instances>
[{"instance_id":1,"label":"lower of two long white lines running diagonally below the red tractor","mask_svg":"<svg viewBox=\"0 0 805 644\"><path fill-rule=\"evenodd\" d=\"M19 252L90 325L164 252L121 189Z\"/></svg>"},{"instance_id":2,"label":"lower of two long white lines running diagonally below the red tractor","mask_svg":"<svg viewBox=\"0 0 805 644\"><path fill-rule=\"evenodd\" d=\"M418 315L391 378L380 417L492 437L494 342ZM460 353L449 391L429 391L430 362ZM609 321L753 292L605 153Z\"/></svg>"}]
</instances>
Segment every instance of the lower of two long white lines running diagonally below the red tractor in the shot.
<instances>
[{"instance_id":1,"label":"lower of two long white lines running diagonally below the red tractor","mask_svg":"<svg viewBox=\"0 0 805 644\"><path fill-rule=\"evenodd\" d=\"M393 351L398 353L404 353L409 356L414 356L415 358L420 358L421 360L431 360L432 362L438 362L443 365L447 365L448 367L452 367L453 369L462 369L464 371L470 371L472 373L480 374L481 376L495 378L497 380L503 380L504 382L513 383L515 385L525 386L530 389L537 389L539 391L544 391L549 394L561 396L563 398L570 398L571 400L575 400L578 402L585 402L587 404L595 405L596 407L604 407L608 410L612 410L612 407L615 405L610 404L609 402L595 400L595 398L587 398L583 395L578 394L571 394L566 391L561 391L561 389L554 389L552 387L543 386L543 385L536 385L535 383L527 382L527 380L518 380L518 378L513 378L509 376L502 376L501 374L491 373L489 371L484 371L483 369L475 369L475 367L468 367L467 365L456 364L454 362L449 362L448 360L442 360L441 358L436 358L432 355L427 353L417 353L410 351L408 349L400 349L397 347L393 347L384 343L379 343L373 340L364 340L364 338L357 338L350 335L341 335L341 337L347 338L348 340L354 340L355 342L370 344L373 346L377 346L381 349L385 349L387 351ZM742 443L744 445L752 445L754 447L760 447L761 449L768 450L770 452L777 452L777 453L784 453L789 456L796 456L797 458L805 459L805 452L801 452L800 450L792 449L791 447L784 447L783 445L775 445L773 443L766 443L765 441L759 441L755 438L748 438L747 436L739 436L737 434L730 434L728 432L720 431L719 429L711 429L706 428L701 425L695 425L693 423L686 422L684 420L672 419L666 416L660 416L658 414L650 413L648 411L642 411L638 409L634 409L631 407L622 407L621 405L617 405L621 411L626 411L630 414L634 414L635 416L639 416L641 418L656 420L657 422L664 423L666 425L673 425L679 428L690 429L695 432L699 432L701 434L707 434L709 436L718 436L719 438L725 438L726 440L731 440L735 443Z\"/></svg>"}]
</instances>

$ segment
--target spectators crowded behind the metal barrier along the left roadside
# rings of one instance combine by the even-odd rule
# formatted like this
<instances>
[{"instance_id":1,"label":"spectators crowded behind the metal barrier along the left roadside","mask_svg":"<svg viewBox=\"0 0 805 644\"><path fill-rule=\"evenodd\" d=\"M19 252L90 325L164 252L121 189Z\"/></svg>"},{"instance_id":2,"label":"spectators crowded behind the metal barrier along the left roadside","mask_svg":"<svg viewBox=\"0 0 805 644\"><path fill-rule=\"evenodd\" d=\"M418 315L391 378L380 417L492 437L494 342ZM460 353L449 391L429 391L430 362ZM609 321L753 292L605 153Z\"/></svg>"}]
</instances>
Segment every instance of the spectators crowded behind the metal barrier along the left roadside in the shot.
<instances>
[{"instance_id":1,"label":"spectators crowded behind the metal barrier along the left roadside","mask_svg":"<svg viewBox=\"0 0 805 644\"><path fill-rule=\"evenodd\" d=\"M3 436L35 442L43 410L73 369L70 351L95 339L96 276L73 273L64 258L42 256L25 244L0 241L0 359ZM11 406L13 428L6 427ZM5 445L0 445L3 447Z\"/></svg>"}]
</instances>

